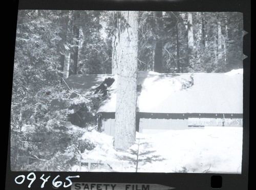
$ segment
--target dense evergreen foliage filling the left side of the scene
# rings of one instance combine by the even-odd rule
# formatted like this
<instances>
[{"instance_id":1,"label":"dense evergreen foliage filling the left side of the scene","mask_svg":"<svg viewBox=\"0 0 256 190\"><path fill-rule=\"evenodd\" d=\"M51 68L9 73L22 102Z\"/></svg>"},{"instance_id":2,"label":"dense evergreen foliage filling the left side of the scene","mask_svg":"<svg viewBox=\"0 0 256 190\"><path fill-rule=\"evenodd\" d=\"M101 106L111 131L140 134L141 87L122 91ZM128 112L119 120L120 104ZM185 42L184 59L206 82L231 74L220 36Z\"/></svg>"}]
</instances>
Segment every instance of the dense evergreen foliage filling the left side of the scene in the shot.
<instances>
[{"instance_id":1,"label":"dense evergreen foliage filling the left side of the scene","mask_svg":"<svg viewBox=\"0 0 256 190\"><path fill-rule=\"evenodd\" d=\"M18 14L11 107L11 169L69 171L76 162L77 140L82 135L79 131L68 132L66 122L71 107L79 100L93 110L90 106L97 104L97 96L88 98L77 93L73 99L74 91L60 84L61 11L20 10ZM33 130L26 130L26 126ZM32 162L23 163L22 158L26 157L33 158Z\"/></svg>"}]
</instances>

